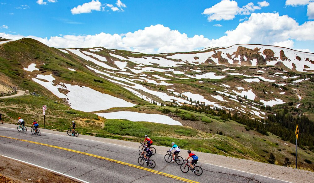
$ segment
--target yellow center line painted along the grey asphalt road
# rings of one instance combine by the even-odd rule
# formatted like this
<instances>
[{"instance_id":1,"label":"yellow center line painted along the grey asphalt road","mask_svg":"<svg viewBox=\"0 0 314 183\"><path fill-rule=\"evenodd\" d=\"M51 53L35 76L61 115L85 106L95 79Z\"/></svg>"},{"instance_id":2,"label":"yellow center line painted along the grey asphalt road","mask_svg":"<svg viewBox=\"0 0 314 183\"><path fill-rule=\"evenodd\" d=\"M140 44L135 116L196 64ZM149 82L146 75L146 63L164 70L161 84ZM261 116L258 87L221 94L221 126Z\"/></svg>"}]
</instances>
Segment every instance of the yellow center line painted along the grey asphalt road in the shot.
<instances>
[{"instance_id":1,"label":"yellow center line painted along the grey asphalt road","mask_svg":"<svg viewBox=\"0 0 314 183\"><path fill-rule=\"evenodd\" d=\"M133 168L149 171L149 172L152 172L152 173L157 174L157 175L163 175L163 176L166 176L166 177L170 177L170 178L173 178L173 179L176 179L176 180L181 180L181 181L188 182L188 183L199 183L199 182L196 182L196 181L193 181L193 180L185 179L185 178L182 178L182 177L178 177L178 176L175 176L175 175L167 174L167 173L156 171L156 170L151 170L151 169L148 169L148 168L145 168L145 167L141 167L141 166L134 165L134 164L129 164L129 163L126 163L126 162L123 162L123 161L115 160L115 159L105 158L105 157L98 156L98 155L95 155L95 154L84 153L84 152L81 152L81 151L76 151L76 150L72 150L72 149L68 149L68 148L62 148L62 147L58 147L58 146L54 146L54 145L38 143L38 142L33 142L33 141L23 140L23 139L18 139L18 138L13 138L13 137L6 137L6 136L1 136L1 135L0 135L0 137L14 139L14 140L19 140L19 141L28 142L28 143L34 143L34 144L47 146L47 147L51 147L51 148L62 149L62 150L66 150L66 151L70 151L70 152L74 152L74 153L80 153L80 154L84 154L84 155L87 155L87 156L92 156L92 157L99 158L99 159L105 159L105 160L111 161L113 163L118 163L118 164L126 165L126 166L129 166L129 167L133 167Z\"/></svg>"}]
</instances>

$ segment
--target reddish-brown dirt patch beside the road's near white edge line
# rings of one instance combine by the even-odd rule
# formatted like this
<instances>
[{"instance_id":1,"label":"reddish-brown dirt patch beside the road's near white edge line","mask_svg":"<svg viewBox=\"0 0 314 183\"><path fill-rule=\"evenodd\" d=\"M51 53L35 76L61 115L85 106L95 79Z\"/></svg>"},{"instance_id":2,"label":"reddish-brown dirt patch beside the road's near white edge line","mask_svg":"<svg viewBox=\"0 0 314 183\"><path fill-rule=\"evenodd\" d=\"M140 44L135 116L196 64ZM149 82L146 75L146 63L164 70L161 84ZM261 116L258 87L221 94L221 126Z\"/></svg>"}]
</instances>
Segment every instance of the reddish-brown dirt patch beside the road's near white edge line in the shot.
<instances>
[{"instance_id":1,"label":"reddish-brown dirt patch beside the road's near white edge line","mask_svg":"<svg viewBox=\"0 0 314 183\"><path fill-rule=\"evenodd\" d=\"M1 183L78 183L68 177L3 156L0 156L0 162Z\"/></svg>"}]
</instances>

